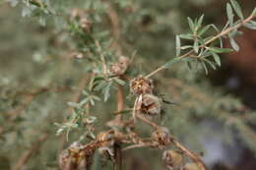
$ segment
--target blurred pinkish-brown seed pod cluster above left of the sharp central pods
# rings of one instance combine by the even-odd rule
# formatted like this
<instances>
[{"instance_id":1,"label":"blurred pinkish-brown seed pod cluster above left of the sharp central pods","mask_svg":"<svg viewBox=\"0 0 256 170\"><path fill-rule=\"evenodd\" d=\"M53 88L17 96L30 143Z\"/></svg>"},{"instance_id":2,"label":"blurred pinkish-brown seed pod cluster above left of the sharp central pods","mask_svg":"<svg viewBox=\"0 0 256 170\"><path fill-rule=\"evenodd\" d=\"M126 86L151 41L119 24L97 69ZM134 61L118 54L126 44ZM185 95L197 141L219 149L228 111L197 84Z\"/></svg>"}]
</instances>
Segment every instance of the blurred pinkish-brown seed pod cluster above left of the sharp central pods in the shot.
<instances>
[{"instance_id":1,"label":"blurred pinkish-brown seed pod cluster above left of the sharp central pods","mask_svg":"<svg viewBox=\"0 0 256 170\"><path fill-rule=\"evenodd\" d=\"M120 56L118 59L118 62L110 66L109 72L113 76L123 75L128 69L129 64L130 64L130 60L127 57Z\"/></svg>"}]
</instances>

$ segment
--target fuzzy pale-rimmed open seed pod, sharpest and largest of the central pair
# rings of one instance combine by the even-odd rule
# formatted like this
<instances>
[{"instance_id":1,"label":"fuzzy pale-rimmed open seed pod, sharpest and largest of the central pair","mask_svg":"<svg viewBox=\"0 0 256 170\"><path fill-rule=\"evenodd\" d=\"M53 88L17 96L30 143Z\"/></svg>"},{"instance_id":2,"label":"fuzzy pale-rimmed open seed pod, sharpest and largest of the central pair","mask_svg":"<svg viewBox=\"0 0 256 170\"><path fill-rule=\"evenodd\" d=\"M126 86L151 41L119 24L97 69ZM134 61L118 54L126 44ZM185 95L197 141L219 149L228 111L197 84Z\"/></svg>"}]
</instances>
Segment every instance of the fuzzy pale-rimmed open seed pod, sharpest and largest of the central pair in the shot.
<instances>
[{"instance_id":1,"label":"fuzzy pale-rimmed open seed pod, sharpest and largest of the central pair","mask_svg":"<svg viewBox=\"0 0 256 170\"><path fill-rule=\"evenodd\" d=\"M138 110L150 116L160 114L160 98L153 94L144 94L138 103Z\"/></svg>"}]
</instances>

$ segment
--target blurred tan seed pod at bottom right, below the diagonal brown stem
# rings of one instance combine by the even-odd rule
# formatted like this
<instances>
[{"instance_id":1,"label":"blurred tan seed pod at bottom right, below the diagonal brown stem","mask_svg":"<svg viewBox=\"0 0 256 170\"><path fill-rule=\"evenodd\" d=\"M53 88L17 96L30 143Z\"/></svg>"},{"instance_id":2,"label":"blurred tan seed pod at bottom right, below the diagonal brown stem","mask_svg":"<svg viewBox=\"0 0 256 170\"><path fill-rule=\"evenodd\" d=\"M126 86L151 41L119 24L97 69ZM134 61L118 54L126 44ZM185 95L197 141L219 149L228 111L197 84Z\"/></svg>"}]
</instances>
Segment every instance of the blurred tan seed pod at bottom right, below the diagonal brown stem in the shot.
<instances>
[{"instance_id":1,"label":"blurred tan seed pod at bottom right, below the diagonal brown stem","mask_svg":"<svg viewBox=\"0 0 256 170\"><path fill-rule=\"evenodd\" d=\"M165 150L162 154L162 160L167 169L179 168L183 165L183 156L176 150Z\"/></svg>"}]
</instances>

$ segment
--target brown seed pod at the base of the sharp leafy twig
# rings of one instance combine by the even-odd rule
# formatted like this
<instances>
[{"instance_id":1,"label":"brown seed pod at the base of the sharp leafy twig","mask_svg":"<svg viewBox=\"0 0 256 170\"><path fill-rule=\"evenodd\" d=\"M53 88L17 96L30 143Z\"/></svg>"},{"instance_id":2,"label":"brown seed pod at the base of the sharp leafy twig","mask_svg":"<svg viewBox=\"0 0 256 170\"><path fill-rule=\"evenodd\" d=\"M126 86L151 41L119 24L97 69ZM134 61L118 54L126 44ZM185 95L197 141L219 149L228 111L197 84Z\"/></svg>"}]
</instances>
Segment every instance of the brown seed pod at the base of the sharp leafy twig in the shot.
<instances>
[{"instance_id":1,"label":"brown seed pod at the base of the sharp leafy twig","mask_svg":"<svg viewBox=\"0 0 256 170\"><path fill-rule=\"evenodd\" d=\"M141 75L130 82L131 91L137 95L152 93L153 88L152 80L146 79Z\"/></svg>"}]
</instances>

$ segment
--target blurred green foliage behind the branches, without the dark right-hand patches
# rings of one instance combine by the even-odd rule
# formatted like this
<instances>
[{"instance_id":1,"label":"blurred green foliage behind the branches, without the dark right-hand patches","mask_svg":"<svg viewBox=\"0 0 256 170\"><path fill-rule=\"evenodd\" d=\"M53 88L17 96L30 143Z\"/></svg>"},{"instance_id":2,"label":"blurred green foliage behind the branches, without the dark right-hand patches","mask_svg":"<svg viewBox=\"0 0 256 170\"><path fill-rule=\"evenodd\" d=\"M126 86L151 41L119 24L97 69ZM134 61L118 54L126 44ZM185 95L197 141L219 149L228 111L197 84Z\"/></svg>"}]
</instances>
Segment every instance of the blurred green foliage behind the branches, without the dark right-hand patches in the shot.
<instances>
[{"instance_id":1,"label":"blurred green foliage behind the branches, without the dark right-hand patches","mask_svg":"<svg viewBox=\"0 0 256 170\"><path fill-rule=\"evenodd\" d=\"M114 117L115 85L123 83L113 80L88 93L92 86L83 84L83 80L89 81L90 72L103 72L100 54L104 54L109 66L118 56L132 57L136 51L128 75L145 75L176 55L175 35L189 31L187 16L194 20L204 13L203 26L212 23L219 26L227 20L216 16L224 13L224 2L213 0L9 1L0 7L0 169L3 170L15 169L31 149L32 156L23 162L22 169L57 169L57 156L63 148L74 141L89 142L85 134L92 132L85 131L88 127L79 122L84 115L80 115L76 104L81 102L96 105L91 109L93 116L88 117L93 119L95 133L106 129L102 125ZM17 5L16 8L10 7L10 3ZM251 12L251 8L246 7L245 13ZM80 23L72 19L74 9L83 12L92 30L85 33ZM231 18L229 14L230 25ZM214 30L208 33L216 34ZM95 39L100 46L96 46ZM235 42L231 43L237 48ZM219 57L214 59L220 63ZM99 79L96 85L100 85L101 78L95 79ZM251 129L255 113L250 110L243 113L239 98L211 85L203 68L190 70L185 63L177 63L156 76L154 82L158 94L176 103L164 105L164 113L156 121L177 139L198 152L204 151L201 139L215 135L215 130L203 129L199 124L213 121L230 130L216 138L230 144L238 136L244 146L256 151L255 132ZM132 107L129 85L124 88L126 106ZM78 107L76 113L72 112L73 107ZM70 120L76 122L69 124ZM136 128L148 135L147 127ZM56 136L57 131L64 133ZM45 142L38 141L44 134L47 134ZM141 167L138 169L163 169L160 151L142 150L127 151L126 169L135 169L132 164L136 163Z\"/></svg>"}]
</instances>

